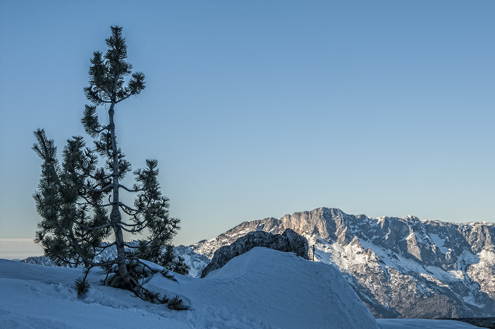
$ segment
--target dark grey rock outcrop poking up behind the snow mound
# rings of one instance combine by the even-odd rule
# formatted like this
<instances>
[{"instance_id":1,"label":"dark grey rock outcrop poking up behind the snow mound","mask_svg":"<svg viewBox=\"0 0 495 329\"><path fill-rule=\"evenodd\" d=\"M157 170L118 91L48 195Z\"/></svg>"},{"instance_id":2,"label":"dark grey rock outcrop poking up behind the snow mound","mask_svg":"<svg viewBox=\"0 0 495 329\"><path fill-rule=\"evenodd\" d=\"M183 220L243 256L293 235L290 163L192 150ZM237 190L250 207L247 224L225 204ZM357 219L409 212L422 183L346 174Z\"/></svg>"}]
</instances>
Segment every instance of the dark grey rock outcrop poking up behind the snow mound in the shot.
<instances>
[{"instance_id":1,"label":"dark grey rock outcrop poking up behind the snow mound","mask_svg":"<svg viewBox=\"0 0 495 329\"><path fill-rule=\"evenodd\" d=\"M213 270L219 269L236 256L247 253L254 247L266 247L285 252L293 252L297 256L308 259L308 241L287 228L282 234L272 234L265 231L249 232L229 246L223 246L215 251L210 264L201 273L201 277Z\"/></svg>"}]
</instances>

